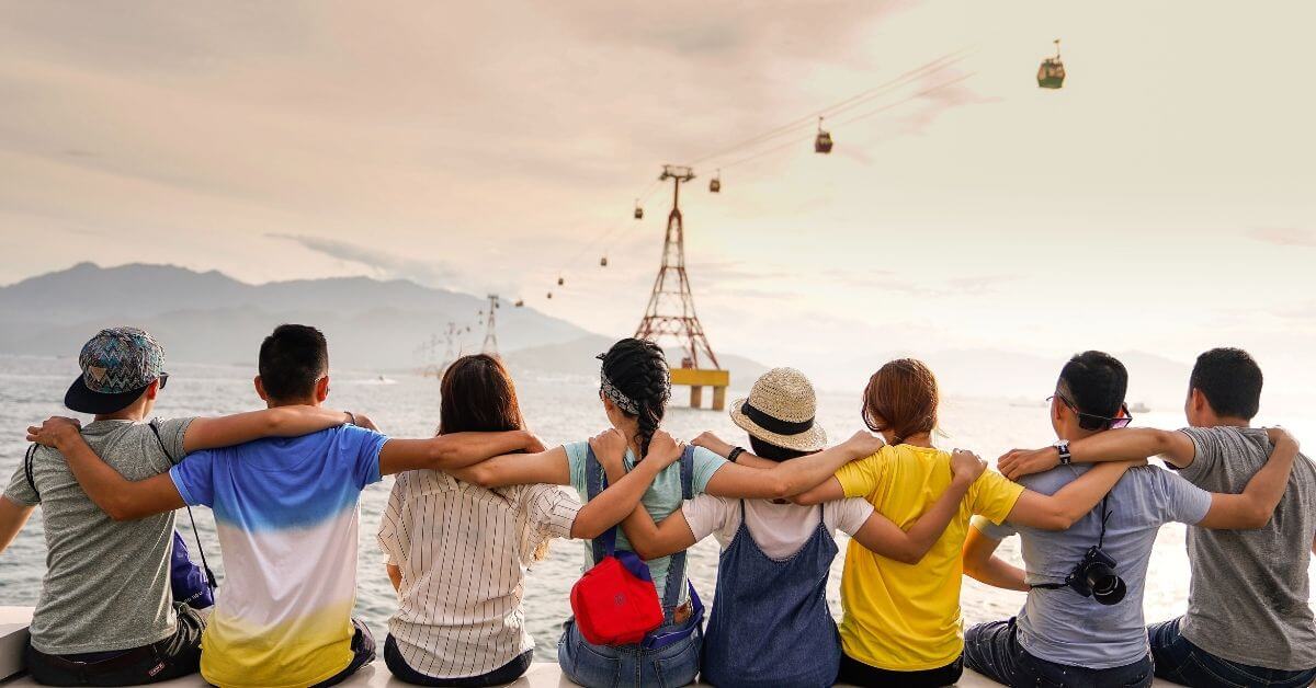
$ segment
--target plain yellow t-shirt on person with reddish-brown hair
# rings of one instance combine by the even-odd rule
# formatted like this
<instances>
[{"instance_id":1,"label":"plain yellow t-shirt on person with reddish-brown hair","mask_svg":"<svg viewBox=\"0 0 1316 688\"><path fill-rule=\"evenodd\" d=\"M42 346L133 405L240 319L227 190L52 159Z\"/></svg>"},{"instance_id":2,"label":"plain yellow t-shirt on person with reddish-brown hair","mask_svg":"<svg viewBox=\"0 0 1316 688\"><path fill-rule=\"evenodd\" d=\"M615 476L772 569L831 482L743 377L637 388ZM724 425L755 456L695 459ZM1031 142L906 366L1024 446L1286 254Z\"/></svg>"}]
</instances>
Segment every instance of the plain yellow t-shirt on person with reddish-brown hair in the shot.
<instances>
[{"instance_id":1,"label":"plain yellow t-shirt on person with reddish-brown hair","mask_svg":"<svg viewBox=\"0 0 1316 688\"><path fill-rule=\"evenodd\" d=\"M950 454L899 445L837 471L846 497L863 497L898 526L909 528L950 487ZM969 520L1000 524L1024 492L996 471L969 488L959 513L916 566L873 554L850 541L841 576L845 654L891 671L944 667L963 651L959 618L961 551Z\"/></svg>"}]
</instances>

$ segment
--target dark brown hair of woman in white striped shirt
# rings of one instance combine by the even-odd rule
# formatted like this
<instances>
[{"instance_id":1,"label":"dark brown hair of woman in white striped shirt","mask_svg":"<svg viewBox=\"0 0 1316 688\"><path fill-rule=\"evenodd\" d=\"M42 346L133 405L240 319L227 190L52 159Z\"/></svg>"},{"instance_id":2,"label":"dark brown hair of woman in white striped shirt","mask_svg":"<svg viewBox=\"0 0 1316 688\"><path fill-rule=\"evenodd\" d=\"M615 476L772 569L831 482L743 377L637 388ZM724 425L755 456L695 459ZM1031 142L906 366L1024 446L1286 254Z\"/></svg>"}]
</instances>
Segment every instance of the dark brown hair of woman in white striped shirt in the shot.
<instances>
[{"instance_id":1,"label":"dark brown hair of woman in white striped shirt","mask_svg":"<svg viewBox=\"0 0 1316 688\"><path fill-rule=\"evenodd\" d=\"M525 418L503 362L475 354L453 362L440 383L438 434L521 430Z\"/></svg>"}]
</instances>

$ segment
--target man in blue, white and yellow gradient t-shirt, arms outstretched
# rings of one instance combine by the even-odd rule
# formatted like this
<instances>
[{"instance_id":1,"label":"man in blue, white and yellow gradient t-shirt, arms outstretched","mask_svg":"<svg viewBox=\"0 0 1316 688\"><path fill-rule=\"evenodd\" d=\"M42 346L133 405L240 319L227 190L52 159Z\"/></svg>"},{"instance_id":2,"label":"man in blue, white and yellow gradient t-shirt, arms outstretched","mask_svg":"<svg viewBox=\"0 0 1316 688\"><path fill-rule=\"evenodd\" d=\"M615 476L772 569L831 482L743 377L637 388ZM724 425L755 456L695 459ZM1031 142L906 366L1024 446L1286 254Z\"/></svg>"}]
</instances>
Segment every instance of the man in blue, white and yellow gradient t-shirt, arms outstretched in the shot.
<instances>
[{"instance_id":1,"label":"man in blue, white and yellow gradient t-shirt, arms outstretched","mask_svg":"<svg viewBox=\"0 0 1316 688\"><path fill-rule=\"evenodd\" d=\"M329 395L324 334L280 325L261 343L255 391L271 409L320 406ZM365 416L355 422L372 426ZM187 505L215 512L225 591L201 638L201 676L222 687L333 685L375 658L357 599L358 500L382 475L470 464L540 450L524 430L390 439L343 425L295 439L192 453L167 475L125 479L51 418L32 439L58 449L78 483L116 518Z\"/></svg>"}]
</instances>

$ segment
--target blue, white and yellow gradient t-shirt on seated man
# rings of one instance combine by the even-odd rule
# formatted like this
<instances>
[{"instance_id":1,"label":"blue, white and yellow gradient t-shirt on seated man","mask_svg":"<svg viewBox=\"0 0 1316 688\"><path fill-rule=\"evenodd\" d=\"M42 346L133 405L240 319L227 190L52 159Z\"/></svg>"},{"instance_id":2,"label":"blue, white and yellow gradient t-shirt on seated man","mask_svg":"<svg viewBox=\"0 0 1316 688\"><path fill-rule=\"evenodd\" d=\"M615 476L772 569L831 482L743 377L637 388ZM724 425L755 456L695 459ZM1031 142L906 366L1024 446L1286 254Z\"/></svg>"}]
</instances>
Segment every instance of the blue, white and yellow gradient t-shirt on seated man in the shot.
<instances>
[{"instance_id":1,"label":"blue, white and yellow gradient t-shirt on seated man","mask_svg":"<svg viewBox=\"0 0 1316 688\"><path fill-rule=\"evenodd\" d=\"M309 685L353 663L357 503L387 438L355 426L195 453L170 475L215 510L225 587L201 643L217 685Z\"/></svg>"}]
</instances>

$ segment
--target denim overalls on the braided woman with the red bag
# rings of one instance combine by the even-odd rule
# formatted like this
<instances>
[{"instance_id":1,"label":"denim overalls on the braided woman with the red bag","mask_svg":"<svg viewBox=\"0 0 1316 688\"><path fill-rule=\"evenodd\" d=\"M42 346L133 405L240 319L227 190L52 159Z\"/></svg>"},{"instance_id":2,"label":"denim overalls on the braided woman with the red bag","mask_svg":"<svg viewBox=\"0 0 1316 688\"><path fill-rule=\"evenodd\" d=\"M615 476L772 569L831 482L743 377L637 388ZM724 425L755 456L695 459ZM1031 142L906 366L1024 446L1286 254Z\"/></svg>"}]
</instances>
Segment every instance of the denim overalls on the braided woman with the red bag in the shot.
<instances>
[{"instance_id":1,"label":"denim overalls on the braided woman with the red bag","mask_svg":"<svg viewBox=\"0 0 1316 688\"><path fill-rule=\"evenodd\" d=\"M682 499L695 495L695 447L686 447L680 456ZM586 495L594 500L603 492L603 466L590 450L586 460ZM613 533L615 530L609 530ZM600 562L605 554L604 537L591 542L594 560ZM562 625L562 638L558 641L558 664L572 681L587 688L676 688L695 683L699 674L699 654L703 647L703 605L690 585L690 602L694 613L683 624L672 621L672 613L680 606L680 585L686 583L686 553L671 555L667 568L667 584L662 595L665 621L654 629L640 645L607 646L591 645L580 635L574 618Z\"/></svg>"}]
</instances>

